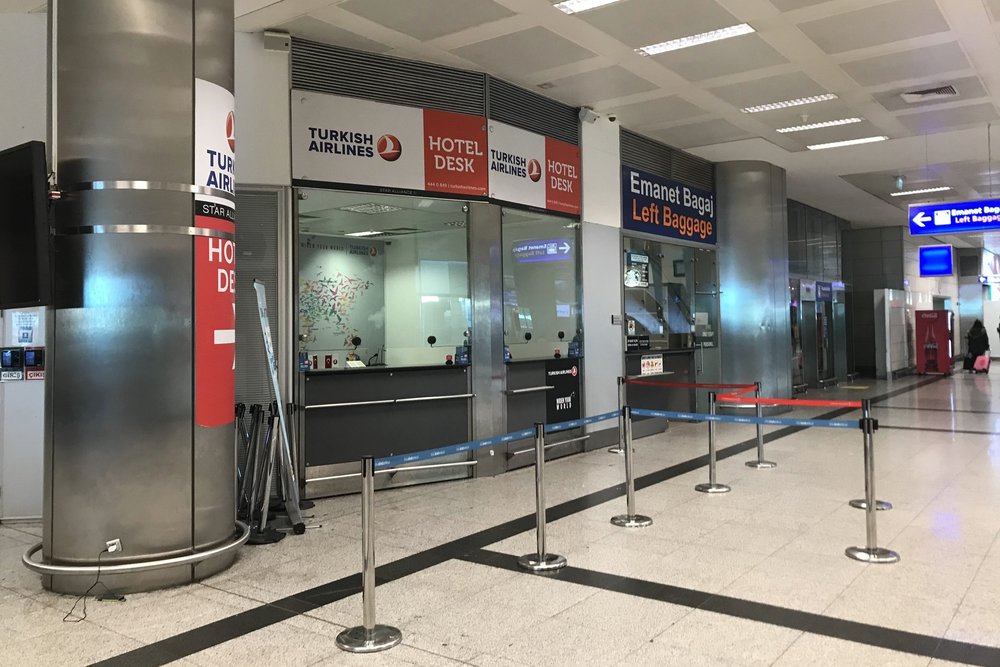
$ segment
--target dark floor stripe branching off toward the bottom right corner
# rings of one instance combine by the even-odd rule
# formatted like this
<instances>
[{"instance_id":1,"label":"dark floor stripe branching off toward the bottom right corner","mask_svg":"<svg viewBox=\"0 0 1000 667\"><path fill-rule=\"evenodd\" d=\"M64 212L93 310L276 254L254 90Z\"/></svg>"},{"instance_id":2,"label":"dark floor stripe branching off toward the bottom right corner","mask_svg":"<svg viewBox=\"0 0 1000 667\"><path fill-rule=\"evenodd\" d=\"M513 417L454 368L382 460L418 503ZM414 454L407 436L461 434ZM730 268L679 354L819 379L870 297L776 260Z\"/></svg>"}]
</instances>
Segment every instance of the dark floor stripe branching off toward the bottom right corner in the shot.
<instances>
[{"instance_id":1,"label":"dark floor stripe branching off toward the bottom right corner","mask_svg":"<svg viewBox=\"0 0 1000 667\"><path fill-rule=\"evenodd\" d=\"M479 550L462 557L462 560L488 565L525 576L544 576L567 581L591 588L599 588L614 593L624 593L635 597L667 602L670 604L711 611L717 614L743 618L769 625L778 625L792 630L800 630L834 639L877 646L879 648L921 655L927 658L963 662L969 665L995 667L1000 665L1000 648L969 644L951 639L941 639L931 635L921 635L905 630L893 630L869 623L849 621L822 614L813 614L798 609L778 607L763 602L752 602L739 598L707 593L705 591L671 586L656 581L645 581L616 574L596 572L567 566L545 575L529 575L517 565L517 557L496 551ZM613 622L614 619L607 619ZM670 632L667 630L667 632Z\"/></svg>"}]
</instances>

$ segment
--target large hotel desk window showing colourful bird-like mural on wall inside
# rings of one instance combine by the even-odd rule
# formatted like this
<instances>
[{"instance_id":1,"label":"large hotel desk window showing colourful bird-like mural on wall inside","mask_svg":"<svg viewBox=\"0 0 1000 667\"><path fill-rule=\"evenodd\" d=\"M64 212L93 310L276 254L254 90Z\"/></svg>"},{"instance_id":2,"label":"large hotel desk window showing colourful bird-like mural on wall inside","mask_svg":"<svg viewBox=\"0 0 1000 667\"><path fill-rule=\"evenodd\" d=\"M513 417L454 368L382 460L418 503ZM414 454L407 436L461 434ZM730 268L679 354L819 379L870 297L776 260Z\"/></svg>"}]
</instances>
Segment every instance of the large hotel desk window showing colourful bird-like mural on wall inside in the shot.
<instances>
[{"instance_id":1,"label":"large hotel desk window showing colourful bird-like mural on wall inside","mask_svg":"<svg viewBox=\"0 0 1000 667\"><path fill-rule=\"evenodd\" d=\"M312 368L468 363L462 202L301 190L299 340Z\"/></svg>"}]
</instances>

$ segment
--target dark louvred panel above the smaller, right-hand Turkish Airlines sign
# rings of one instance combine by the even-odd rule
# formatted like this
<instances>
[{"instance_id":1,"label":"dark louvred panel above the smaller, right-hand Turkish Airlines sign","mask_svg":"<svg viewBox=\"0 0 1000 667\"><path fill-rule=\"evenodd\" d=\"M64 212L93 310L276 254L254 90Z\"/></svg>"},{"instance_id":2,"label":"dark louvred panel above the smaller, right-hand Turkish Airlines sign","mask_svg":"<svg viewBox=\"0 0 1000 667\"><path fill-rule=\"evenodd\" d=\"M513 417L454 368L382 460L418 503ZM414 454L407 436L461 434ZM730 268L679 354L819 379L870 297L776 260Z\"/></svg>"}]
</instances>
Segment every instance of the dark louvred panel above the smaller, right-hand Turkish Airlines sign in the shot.
<instances>
[{"instance_id":1,"label":"dark louvred panel above the smaller, right-hand Turkish Airlines sign","mask_svg":"<svg viewBox=\"0 0 1000 667\"><path fill-rule=\"evenodd\" d=\"M580 118L576 107L489 77L490 120L562 141L580 143Z\"/></svg>"}]
</instances>

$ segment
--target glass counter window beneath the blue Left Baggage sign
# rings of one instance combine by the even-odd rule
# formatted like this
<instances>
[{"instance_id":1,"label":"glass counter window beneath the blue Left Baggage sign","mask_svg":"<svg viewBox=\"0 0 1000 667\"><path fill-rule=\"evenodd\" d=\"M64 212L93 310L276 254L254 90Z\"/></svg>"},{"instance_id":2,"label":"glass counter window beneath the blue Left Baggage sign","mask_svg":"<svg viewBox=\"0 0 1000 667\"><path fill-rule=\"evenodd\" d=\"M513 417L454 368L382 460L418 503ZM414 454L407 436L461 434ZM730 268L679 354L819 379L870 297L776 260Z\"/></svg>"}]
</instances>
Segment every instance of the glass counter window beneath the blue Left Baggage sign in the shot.
<instances>
[{"instance_id":1,"label":"glass counter window beneath the blue Left Baggage sign","mask_svg":"<svg viewBox=\"0 0 1000 667\"><path fill-rule=\"evenodd\" d=\"M714 317L697 312L693 248L645 239L623 239L625 335L636 349L693 346L697 327L714 335Z\"/></svg>"}]
</instances>

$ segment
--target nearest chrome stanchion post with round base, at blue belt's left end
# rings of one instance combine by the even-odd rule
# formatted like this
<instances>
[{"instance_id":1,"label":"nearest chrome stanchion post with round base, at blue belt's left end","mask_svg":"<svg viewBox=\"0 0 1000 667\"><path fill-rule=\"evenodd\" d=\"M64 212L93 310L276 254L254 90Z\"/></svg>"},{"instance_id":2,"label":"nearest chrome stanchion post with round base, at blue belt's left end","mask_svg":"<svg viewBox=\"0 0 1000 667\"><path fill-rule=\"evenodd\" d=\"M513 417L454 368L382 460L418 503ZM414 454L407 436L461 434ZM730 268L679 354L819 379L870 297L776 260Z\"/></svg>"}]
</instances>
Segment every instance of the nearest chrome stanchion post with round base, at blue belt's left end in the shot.
<instances>
[{"instance_id":1,"label":"nearest chrome stanchion post with round base, at blue belt's left end","mask_svg":"<svg viewBox=\"0 0 1000 667\"><path fill-rule=\"evenodd\" d=\"M337 635L337 647L348 653L374 653L392 648L403 640L398 628L375 623L375 459L361 459L361 599L364 625Z\"/></svg>"}]
</instances>

